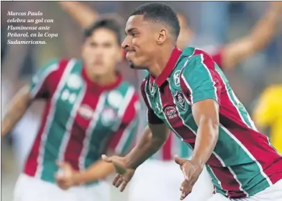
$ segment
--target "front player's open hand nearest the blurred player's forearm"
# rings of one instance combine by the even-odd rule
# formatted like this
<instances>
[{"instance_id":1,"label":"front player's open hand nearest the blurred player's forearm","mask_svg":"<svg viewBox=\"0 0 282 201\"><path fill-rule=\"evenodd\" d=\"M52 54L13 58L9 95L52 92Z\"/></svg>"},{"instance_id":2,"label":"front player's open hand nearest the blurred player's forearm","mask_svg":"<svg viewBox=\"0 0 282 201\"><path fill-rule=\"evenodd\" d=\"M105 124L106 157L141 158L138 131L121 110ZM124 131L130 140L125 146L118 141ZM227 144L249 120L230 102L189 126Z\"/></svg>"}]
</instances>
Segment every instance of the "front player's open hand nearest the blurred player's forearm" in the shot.
<instances>
[{"instance_id":1,"label":"front player's open hand nearest the blurred player's forearm","mask_svg":"<svg viewBox=\"0 0 282 201\"><path fill-rule=\"evenodd\" d=\"M119 191L124 191L126 188L128 182L131 180L131 178L134 175L135 169L127 168L126 167L126 161L124 157L119 156L106 156L102 155L102 159L108 163L113 163L115 166L115 172L117 172L117 175L115 176L115 179L113 180L113 186L119 188Z\"/></svg>"}]
</instances>

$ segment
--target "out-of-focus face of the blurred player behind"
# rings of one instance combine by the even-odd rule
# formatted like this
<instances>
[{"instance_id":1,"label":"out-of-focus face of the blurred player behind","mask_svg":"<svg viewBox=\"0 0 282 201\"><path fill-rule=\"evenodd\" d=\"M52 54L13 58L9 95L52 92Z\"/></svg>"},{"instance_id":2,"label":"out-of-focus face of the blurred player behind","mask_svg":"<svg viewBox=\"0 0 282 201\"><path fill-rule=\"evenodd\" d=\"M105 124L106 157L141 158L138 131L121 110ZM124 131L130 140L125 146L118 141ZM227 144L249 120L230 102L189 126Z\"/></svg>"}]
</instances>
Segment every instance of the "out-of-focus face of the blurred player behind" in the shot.
<instances>
[{"instance_id":1,"label":"out-of-focus face of the blurred player behind","mask_svg":"<svg viewBox=\"0 0 282 201\"><path fill-rule=\"evenodd\" d=\"M115 66L122 60L122 48L113 31L101 28L85 40L82 56L92 76L103 76L115 71Z\"/></svg>"}]
</instances>

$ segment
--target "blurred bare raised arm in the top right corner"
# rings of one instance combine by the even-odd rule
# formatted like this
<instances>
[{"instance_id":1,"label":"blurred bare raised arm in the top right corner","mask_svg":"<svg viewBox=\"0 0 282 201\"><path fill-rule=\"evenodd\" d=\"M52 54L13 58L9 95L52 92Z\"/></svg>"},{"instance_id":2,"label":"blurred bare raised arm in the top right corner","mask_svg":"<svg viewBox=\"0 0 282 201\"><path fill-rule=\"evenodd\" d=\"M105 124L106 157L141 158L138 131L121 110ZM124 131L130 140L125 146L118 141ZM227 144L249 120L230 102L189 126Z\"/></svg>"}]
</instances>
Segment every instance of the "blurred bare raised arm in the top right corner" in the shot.
<instances>
[{"instance_id":1,"label":"blurred bare raised arm in the top right corner","mask_svg":"<svg viewBox=\"0 0 282 201\"><path fill-rule=\"evenodd\" d=\"M251 33L235 40L222 49L223 68L233 68L240 61L265 48L272 40L276 32L276 25L281 21L282 2L270 3L270 8L256 23Z\"/></svg>"}]
</instances>

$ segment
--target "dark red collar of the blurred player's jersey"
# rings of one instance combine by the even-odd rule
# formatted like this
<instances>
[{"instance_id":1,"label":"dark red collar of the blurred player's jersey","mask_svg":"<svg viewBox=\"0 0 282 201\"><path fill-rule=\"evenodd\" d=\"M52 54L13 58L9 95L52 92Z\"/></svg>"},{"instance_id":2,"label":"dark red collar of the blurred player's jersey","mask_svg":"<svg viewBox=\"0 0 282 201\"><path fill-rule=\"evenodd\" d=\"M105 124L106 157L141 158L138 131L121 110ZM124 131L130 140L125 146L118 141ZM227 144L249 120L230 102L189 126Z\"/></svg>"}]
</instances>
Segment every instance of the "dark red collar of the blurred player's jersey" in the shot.
<instances>
[{"instance_id":1,"label":"dark red collar of the blurred player's jersey","mask_svg":"<svg viewBox=\"0 0 282 201\"><path fill-rule=\"evenodd\" d=\"M86 74L85 67L83 67L82 76L83 76L83 79L85 79L86 83L88 83L88 86L90 88L92 88L93 90L97 90L99 92L103 92L105 90L113 90L113 89L117 88L117 86L119 86L119 84L122 83L122 80L123 80L122 75L119 72L117 72L117 80L115 81L115 83L112 83L112 84L106 85L106 86L101 86L98 83L94 83L94 81L92 81L88 77L88 75Z\"/></svg>"}]
</instances>

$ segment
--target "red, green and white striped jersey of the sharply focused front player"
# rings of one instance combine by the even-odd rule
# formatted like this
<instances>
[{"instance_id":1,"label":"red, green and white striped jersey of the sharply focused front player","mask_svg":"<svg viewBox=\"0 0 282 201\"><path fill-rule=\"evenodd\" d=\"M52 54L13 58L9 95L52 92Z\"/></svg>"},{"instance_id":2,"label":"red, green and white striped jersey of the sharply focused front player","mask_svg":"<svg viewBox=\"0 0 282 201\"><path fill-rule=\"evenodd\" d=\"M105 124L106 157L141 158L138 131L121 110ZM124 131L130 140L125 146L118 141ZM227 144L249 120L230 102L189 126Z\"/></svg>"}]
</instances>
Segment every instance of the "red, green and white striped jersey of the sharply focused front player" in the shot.
<instances>
[{"instance_id":1,"label":"red, green and white striped jersey of the sharply focused front player","mask_svg":"<svg viewBox=\"0 0 282 201\"><path fill-rule=\"evenodd\" d=\"M260 134L229 86L222 70L206 52L174 49L163 72L141 86L151 124L165 123L194 148L197 124L191 106L204 99L219 104L219 138L206 168L215 192L228 198L254 195L282 179L282 156Z\"/></svg>"}]
</instances>

